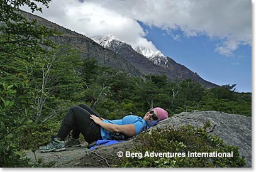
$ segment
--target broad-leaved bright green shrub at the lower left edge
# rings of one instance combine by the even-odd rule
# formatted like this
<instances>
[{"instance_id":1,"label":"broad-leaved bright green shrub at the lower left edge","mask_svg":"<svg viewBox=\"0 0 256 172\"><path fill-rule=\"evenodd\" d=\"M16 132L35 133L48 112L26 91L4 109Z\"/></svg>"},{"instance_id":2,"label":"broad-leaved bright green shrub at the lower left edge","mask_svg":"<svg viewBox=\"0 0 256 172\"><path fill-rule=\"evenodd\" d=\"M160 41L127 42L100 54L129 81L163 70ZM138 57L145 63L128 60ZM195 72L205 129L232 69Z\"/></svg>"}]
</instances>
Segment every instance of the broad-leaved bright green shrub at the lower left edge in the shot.
<instances>
[{"instance_id":1,"label":"broad-leaved bright green shrub at the lower left edge","mask_svg":"<svg viewBox=\"0 0 256 172\"><path fill-rule=\"evenodd\" d=\"M15 98L19 97L17 91L13 89L14 85L1 83L0 85L0 165L1 167L8 166L23 166L27 164L26 159L20 159L23 154L19 151L18 139L14 131L21 127L26 127L32 121L28 118L28 109L23 113L16 114ZM17 106L18 107L18 106ZM19 159L21 162L19 162ZM18 161L18 163L13 163Z\"/></svg>"}]
</instances>

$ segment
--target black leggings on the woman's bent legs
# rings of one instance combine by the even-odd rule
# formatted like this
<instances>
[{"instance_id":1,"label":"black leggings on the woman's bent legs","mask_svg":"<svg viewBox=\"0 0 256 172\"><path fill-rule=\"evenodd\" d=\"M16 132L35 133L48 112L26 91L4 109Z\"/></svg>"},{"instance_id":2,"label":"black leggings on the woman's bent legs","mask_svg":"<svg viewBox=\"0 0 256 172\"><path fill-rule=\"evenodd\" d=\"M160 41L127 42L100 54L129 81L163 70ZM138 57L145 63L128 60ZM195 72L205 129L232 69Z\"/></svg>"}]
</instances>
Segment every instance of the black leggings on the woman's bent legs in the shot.
<instances>
[{"instance_id":1,"label":"black leggings on the woman's bent legs","mask_svg":"<svg viewBox=\"0 0 256 172\"><path fill-rule=\"evenodd\" d=\"M101 137L101 126L90 119L91 114L99 117L87 105L82 104L71 107L62 121L57 137L65 139L72 130L72 136L75 139L79 138L79 134L82 133L88 143L103 139Z\"/></svg>"}]
</instances>

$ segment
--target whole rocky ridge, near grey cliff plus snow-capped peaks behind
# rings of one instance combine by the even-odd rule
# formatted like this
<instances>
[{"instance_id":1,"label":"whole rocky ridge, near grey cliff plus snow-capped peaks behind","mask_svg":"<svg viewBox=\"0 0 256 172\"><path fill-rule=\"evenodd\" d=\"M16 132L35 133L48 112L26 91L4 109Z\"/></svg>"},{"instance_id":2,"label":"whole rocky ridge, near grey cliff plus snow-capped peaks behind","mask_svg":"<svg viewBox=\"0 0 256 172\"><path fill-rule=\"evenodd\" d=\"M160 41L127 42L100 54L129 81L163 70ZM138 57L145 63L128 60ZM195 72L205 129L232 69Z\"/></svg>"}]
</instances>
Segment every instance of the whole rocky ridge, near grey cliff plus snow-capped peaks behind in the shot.
<instances>
[{"instance_id":1,"label":"whole rocky ridge, near grey cliff plus snow-capped peaks behind","mask_svg":"<svg viewBox=\"0 0 256 172\"><path fill-rule=\"evenodd\" d=\"M184 80L191 78L196 82L201 83L204 87L217 87L214 83L207 82L192 72L184 65L174 62L169 57L162 56L161 53L153 53L141 49L141 53L146 53L150 58L133 50L130 45L111 39L105 42L106 45L99 45L95 41L87 38L84 35L70 31L62 26L40 18L30 13L23 12L23 16L28 19L36 19L38 24L43 24L51 29L56 29L63 33L60 36L52 38L57 45L70 45L81 50L82 58L96 58L97 61L104 66L118 68L124 72L130 73L132 76L142 75L167 75L169 80ZM160 57L160 58L159 58Z\"/></svg>"}]
</instances>

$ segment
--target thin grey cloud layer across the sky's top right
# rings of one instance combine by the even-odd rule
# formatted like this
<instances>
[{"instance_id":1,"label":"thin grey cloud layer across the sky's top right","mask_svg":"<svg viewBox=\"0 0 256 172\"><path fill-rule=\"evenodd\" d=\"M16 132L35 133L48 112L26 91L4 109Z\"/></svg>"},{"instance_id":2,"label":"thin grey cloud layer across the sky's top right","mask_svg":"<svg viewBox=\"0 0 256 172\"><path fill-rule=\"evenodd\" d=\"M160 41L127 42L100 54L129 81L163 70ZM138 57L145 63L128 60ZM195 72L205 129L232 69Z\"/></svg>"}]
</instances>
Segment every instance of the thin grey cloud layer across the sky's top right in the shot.
<instances>
[{"instance_id":1,"label":"thin grey cloud layer across the sky's top right","mask_svg":"<svg viewBox=\"0 0 256 172\"><path fill-rule=\"evenodd\" d=\"M131 0L98 3L117 13L167 30L170 35L174 30L181 30L187 37L206 35L220 40L215 50L223 55L233 55L240 45L252 45L251 1Z\"/></svg>"}]
</instances>

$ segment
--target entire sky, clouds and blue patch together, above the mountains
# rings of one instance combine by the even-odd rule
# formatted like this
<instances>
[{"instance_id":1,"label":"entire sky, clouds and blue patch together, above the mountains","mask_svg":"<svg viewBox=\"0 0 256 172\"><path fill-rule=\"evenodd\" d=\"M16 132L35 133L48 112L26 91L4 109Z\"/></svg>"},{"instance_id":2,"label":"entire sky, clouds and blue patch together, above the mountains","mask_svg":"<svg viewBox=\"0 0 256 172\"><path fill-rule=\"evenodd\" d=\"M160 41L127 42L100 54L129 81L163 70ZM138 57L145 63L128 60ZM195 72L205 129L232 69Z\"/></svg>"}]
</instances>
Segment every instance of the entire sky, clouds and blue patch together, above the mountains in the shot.
<instances>
[{"instance_id":1,"label":"entire sky, clouds and blue patch together, above the mountains","mask_svg":"<svg viewBox=\"0 0 256 172\"><path fill-rule=\"evenodd\" d=\"M89 38L112 34L161 51L204 80L252 92L251 1L54 0L35 14Z\"/></svg>"}]
</instances>

